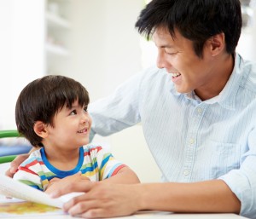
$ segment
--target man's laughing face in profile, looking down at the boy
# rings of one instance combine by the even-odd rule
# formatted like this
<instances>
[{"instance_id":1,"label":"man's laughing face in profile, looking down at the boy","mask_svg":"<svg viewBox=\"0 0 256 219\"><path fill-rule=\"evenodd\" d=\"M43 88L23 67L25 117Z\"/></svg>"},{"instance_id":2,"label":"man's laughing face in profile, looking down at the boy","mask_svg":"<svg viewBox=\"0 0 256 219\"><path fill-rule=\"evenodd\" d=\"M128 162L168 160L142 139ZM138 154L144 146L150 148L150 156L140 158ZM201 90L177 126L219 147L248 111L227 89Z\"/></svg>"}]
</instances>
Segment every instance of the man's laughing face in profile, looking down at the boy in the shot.
<instances>
[{"instance_id":1,"label":"man's laughing face in profile, looking down at the boy","mask_svg":"<svg viewBox=\"0 0 256 219\"><path fill-rule=\"evenodd\" d=\"M205 46L203 58L198 57L193 43L179 32L175 34L176 37L172 38L166 29L158 28L153 40L158 49L157 66L171 73L177 92L189 93L195 90L198 95L218 88L218 73L214 69L212 55L208 52L210 49Z\"/></svg>"}]
</instances>

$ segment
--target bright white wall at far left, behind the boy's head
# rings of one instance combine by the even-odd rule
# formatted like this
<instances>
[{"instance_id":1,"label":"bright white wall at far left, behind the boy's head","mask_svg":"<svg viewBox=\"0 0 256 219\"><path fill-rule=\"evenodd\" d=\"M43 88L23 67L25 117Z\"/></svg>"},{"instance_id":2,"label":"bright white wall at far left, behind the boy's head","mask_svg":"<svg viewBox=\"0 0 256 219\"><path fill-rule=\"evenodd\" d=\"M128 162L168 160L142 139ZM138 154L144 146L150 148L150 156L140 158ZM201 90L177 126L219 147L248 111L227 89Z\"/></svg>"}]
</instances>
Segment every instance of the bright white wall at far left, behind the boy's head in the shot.
<instances>
[{"instance_id":1,"label":"bright white wall at far left, behind the boy's head","mask_svg":"<svg viewBox=\"0 0 256 219\"><path fill-rule=\"evenodd\" d=\"M20 90L44 74L44 1L0 1L0 129L15 129Z\"/></svg>"}]
</instances>

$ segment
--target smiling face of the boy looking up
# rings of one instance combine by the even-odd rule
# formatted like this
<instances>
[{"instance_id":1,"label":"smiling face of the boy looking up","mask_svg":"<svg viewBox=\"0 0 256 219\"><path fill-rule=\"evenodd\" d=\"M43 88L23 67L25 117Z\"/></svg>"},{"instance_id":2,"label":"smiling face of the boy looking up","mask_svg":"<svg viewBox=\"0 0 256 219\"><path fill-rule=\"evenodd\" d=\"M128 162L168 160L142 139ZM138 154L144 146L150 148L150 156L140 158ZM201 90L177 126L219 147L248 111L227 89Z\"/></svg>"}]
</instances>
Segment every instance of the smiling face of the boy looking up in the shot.
<instances>
[{"instance_id":1,"label":"smiling face of the boy looking up","mask_svg":"<svg viewBox=\"0 0 256 219\"><path fill-rule=\"evenodd\" d=\"M54 127L48 125L48 136L44 144L49 147L74 149L89 143L91 118L87 106L80 107L75 101L72 108L62 107L53 118ZM45 145L47 146L47 145Z\"/></svg>"}]
</instances>

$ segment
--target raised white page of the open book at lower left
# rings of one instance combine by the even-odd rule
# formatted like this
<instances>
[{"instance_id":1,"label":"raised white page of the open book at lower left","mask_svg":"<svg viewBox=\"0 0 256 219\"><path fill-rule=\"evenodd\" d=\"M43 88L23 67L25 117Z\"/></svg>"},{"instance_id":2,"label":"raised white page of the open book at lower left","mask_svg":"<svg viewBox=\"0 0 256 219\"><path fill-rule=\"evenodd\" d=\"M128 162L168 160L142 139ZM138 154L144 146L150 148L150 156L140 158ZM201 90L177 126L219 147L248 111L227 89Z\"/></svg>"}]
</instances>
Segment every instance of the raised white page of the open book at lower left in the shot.
<instances>
[{"instance_id":1,"label":"raised white page of the open book at lower left","mask_svg":"<svg viewBox=\"0 0 256 219\"><path fill-rule=\"evenodd\" d=\"M38 203L41 205L49 205L56 208L62 208L64 203L69 199L72 199L73 197L83 193L68 193L66 195L62 195L60 198L52 199L47 193L39 191L33 187L29 187L21 182L15 181L8 176L0 175L0 194L6 197L26 200L30 203ZM0 200L0 203L1 202L4 202L3 199ZM10 203L10 201L7 202ZM17 201L14 200L14 203L15 202Z\"/></svg>"}]
</instances>

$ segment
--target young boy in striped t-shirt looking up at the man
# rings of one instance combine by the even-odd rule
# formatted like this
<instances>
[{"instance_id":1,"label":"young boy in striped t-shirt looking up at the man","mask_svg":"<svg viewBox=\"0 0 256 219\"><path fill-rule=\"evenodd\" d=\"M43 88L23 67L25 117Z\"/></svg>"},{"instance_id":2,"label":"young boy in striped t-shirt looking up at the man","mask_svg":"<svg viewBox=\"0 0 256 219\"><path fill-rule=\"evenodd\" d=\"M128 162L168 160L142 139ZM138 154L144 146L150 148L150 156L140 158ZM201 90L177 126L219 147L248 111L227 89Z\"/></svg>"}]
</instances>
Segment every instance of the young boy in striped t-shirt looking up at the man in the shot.
<instances>
[{"instance_id":1,"label":"young boy in striped t-shirt looking up at the man","mask_svg":"<svg viewBox=\"0 0 256 219\"><path fill-rule=\"evenodd\" d=\"M20 164L15 180L42 191L56 182L57 187L61 182L78 180L139 182L111 153L101 146L87 145L89 101L87 90L72 78L45 76L26 85L16 102L17 129L40 149Z\"/></svg>"}]
</instances>

